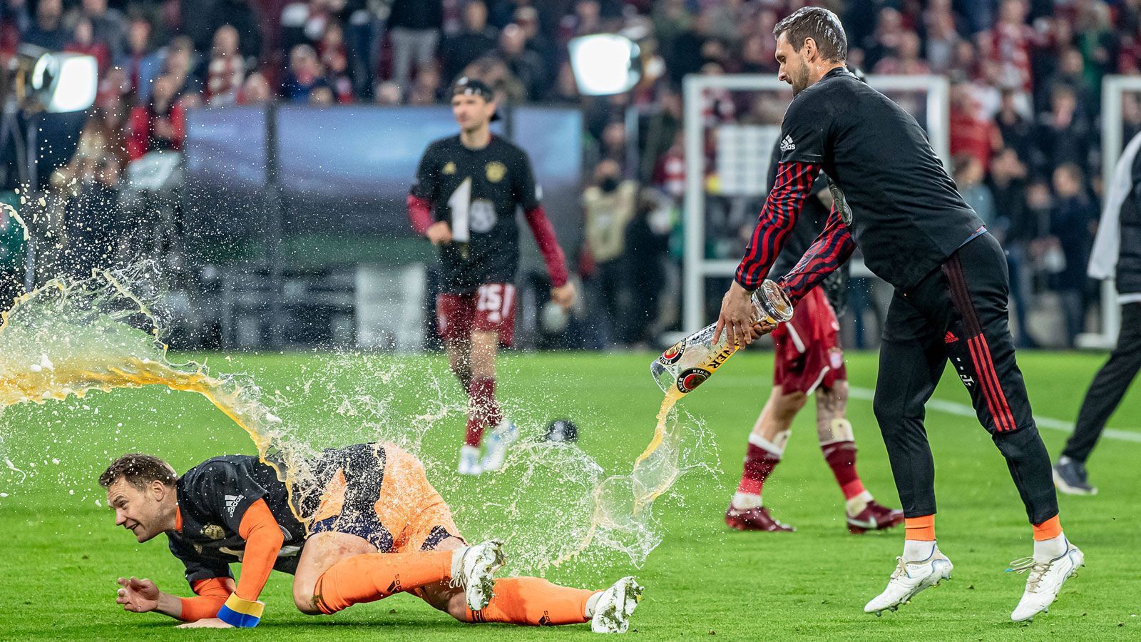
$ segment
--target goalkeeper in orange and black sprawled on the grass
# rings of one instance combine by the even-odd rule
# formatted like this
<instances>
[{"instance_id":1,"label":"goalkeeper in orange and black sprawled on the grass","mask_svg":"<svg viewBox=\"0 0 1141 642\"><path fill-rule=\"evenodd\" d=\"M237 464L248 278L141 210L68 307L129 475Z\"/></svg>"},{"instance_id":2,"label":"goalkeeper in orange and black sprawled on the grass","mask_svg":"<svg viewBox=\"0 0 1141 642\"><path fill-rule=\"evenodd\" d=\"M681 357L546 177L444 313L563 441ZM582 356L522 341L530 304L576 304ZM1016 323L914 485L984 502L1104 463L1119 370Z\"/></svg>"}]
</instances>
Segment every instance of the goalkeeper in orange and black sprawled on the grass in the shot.
<instances>
[{"instance_id":1,"label":"goalkeeper in orange and black sprawled on the grass","mask_svg":"<svg viewBox=\"0 0 1141 642\"><path fill-rule=\"evenodd\" d=\"M641 594L632 577L605 591L493 579L502 545L468 546L423 465L395 446L330 449L313 470L321 492L300 506L307 532L285 484L257 457L215 457L180 478L149 455L116 459L99 475L115 524L139 541L165 532L196 594L176 597L148 579L120 578L116 602L188 623L181 626L252 627L269 571L278 570L294 576L293 602L314 616L408 592L466 623L629 627ZM232 562L242 563L236 587Z\"/></svg>"}]
</instances>

